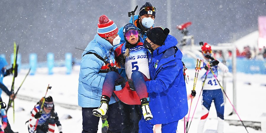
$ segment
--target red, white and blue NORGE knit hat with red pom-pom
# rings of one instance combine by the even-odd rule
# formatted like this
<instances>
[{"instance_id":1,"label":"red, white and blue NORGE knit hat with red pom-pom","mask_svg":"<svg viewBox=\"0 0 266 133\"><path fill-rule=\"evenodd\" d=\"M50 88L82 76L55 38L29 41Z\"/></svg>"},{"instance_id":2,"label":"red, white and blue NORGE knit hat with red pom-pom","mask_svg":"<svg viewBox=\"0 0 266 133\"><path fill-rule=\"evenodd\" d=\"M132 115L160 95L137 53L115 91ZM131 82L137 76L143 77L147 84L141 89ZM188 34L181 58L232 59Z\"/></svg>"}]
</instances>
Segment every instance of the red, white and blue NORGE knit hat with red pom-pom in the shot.
<instances>
[{"instance_id":1,"label":"red, white and blue NORGE knit hat with red pom-pom","mask_svg":"<svg viewBox=\"0 0 266 133\"><path fill-rule=\"evenodd\" d=\"M107 38L118 33L118 28L113 20L109 20L106 15L101 15L99 17L97 33L100 37Z\"/></svg>"}]
</instances>

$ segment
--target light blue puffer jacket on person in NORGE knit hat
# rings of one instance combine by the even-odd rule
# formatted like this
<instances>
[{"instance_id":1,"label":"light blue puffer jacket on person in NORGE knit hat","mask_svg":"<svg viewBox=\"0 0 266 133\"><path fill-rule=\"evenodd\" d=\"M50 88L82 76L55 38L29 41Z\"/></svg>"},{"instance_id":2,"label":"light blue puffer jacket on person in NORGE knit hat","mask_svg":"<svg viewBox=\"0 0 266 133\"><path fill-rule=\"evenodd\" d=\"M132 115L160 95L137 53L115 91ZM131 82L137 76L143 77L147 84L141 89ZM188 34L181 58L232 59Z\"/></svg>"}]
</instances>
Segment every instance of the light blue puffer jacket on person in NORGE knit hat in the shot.
<instances>
[{"instance_id":1,"label":"light blue puffer jacket on person in NORGE knit hat","mask_svg":"<svg viewBox=\"0 0 266 133\"><path fill-rule=\"evenodd\" d=\"M100 106L100 97L102 95L103 81L106 73L99 73L100 69L106 67L106 64L97 58L94 54L86 54L87 51L97 53L102 58L108 56L110 63L115 64L114 52L110 53L113 46L107 40L101 38L98 34L90 41L85 51L82 53L78 87L78 104L83 108L94 108ZM116 86L116 90L121 90L121 86ZM114 96L111 97L109 104L115 103Z\"/></svg>"}]
</instances>

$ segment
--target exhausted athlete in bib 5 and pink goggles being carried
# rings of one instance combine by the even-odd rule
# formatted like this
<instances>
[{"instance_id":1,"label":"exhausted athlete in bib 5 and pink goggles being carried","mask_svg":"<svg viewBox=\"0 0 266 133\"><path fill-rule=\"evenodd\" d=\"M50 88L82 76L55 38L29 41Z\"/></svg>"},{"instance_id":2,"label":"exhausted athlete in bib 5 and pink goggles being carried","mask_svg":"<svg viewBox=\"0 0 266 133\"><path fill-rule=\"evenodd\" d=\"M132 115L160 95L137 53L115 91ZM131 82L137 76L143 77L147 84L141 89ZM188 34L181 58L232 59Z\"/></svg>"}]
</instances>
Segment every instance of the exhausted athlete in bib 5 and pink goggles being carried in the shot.
<instances>
[{"instance_id":1,"label":"exhausted athlete in bib 5 and pink goggles being carried","mask_svg":"<svg viewBox=\"0 0 266 133\"><path fill-rule=\"evenodd\" d=\"M129 105L141 104L145 120L150 120L153 115L149 107L149 98L145 81L150 79L147 50L143 46L137 27L131 23L123 29L126 42L115 50L116 59L125 66L128 82L117 72L111 71L106 74L103 82L101 105L93 110L95 116L107 118L108 103L113 94L114 86L121 85L120 91L115 91L118 98ZM134 86L132 85L134 83ZM132 91L130 88L135 88Z\"/></svg>"}]
</instances>

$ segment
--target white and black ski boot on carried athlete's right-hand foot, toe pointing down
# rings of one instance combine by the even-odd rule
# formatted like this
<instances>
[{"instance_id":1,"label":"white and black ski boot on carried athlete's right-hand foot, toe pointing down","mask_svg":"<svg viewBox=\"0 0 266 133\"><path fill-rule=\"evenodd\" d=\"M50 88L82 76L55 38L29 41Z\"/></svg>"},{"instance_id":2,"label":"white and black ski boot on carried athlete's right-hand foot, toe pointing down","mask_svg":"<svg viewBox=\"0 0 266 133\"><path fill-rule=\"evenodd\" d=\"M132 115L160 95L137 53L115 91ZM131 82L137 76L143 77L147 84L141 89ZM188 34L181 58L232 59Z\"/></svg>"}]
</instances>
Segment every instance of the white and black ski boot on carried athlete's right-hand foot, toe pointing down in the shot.
<instances>
[{"instance_id":1,"label":"white and black ski boot on carried athlete's right-hand foot, toe pointing down","mask_svg":"<svg viewBox=\"0 0 266 133\"><path fill-rule=\"evenodd\" d=\"M150 98L140 99L142 114L143 114L143 117L146 121L153 119L153 115L150 111L149 101L150 101Z\"/></svg>"}]
</instances>

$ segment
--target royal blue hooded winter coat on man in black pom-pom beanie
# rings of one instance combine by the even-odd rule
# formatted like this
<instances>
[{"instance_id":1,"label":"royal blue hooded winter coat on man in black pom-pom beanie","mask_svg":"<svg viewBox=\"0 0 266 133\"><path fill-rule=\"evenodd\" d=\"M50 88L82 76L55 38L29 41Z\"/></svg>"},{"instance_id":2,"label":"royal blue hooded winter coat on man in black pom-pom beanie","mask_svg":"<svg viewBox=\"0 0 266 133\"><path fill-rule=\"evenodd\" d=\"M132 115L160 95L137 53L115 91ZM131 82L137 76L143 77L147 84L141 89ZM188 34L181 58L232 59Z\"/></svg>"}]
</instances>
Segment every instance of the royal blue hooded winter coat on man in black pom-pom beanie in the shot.
<instances>
[{"instance_id":1,"label":"royal blue hooded winter coat on man in black pom-pom beanie","mask_svg":"<svg viewBox=\"0 0 266 133\"><path fill-rule=\"evenodd\" d=\"M166 124L182 119L188 112L182 53L177 40L168 35L165 44L148 54L150 81L146 81L150 97L152 124Z\"/></svg>"}]
</instances>

